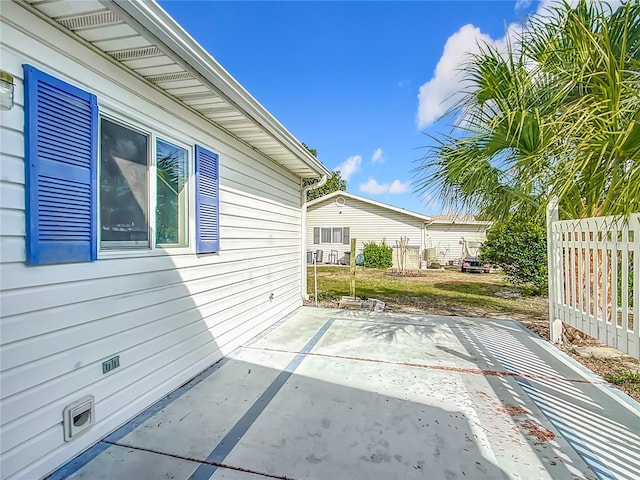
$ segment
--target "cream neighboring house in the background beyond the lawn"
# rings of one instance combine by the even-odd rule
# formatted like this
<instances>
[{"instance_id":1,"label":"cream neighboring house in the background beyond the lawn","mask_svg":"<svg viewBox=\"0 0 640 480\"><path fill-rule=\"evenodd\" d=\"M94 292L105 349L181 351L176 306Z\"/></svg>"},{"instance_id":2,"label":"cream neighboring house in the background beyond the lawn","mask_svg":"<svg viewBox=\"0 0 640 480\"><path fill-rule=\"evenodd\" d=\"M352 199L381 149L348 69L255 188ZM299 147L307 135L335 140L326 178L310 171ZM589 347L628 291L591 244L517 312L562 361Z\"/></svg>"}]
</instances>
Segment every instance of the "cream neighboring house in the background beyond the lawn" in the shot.
<instances>
[{"instance_id":1,"label":"cream neighboring house in the background beyond the lawn","mask_svg":"<svg viewBox=\"0 0 640 480\"><path fill-rule=\"evenodd\" d=\"M339 191L307 204L306 225L307 250L322 252L322 263L346 263L350 238L356 239L357 253L365 243L384 241L394 248L396 258L396 242L405 237L412 256L408 266L418 268L425 249L435 249L430 252L440 262L459 261L463 238L485 238L491 222L465 216L434 218Z\"/></svg>"}]
</instances>

